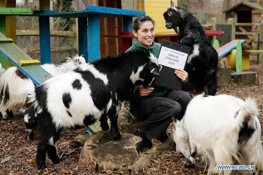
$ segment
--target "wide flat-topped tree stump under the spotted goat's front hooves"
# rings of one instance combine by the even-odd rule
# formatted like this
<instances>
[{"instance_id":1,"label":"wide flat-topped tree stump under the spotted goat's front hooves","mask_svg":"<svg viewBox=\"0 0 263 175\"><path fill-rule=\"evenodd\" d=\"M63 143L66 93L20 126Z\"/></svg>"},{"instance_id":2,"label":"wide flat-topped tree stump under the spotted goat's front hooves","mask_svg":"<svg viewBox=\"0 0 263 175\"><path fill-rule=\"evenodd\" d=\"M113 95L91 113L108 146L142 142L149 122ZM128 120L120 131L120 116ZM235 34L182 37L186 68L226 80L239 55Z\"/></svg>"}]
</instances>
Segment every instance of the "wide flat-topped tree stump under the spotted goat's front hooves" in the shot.
<instances>
[{"instance_id":1,"label":"wide flat-topped tree stump under the spotted goat's front hooves","mask_svg":"<svg viewBox=\"0 0 263 175\"><path fill-rule=\"evenodd\" d=\"M121 140L109 138L109 131L98 131L88 136L79 157L79 164L91 165L96 171L119 170L138 159L141 138L121 132Z\"/></svg>"}]
</instances>

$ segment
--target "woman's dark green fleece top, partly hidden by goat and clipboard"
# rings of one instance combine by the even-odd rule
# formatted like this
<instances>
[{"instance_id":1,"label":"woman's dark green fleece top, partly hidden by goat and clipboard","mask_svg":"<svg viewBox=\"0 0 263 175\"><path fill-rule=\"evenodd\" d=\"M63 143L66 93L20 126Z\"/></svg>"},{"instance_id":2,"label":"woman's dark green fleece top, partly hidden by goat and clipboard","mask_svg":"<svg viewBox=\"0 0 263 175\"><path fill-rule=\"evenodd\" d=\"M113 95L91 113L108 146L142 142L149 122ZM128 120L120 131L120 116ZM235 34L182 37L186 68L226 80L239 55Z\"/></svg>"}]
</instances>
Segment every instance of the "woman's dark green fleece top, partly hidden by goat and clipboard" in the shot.
<instances>
[{"instance_id":1,"label":"woman's dark green fleece top, partly hidden by goat and clipboard","mask_svg":"<svg viewBox=\"0 0 263 175\"><path fill-rule=\"evenodd\" d=\"M139 41L137 40L137 38L135 38L135 40L132 43L132 46L127 51L138 50L138 49L149 50L155 57L158 57L160 47L161 47L161 44L155 43L153 41L153 44L149 48L147 48L147 47L141 45L139 43ZM186 79L186 81L182 82L182 84L185 84L186 82L187 82L187 79ZM148 96L165 97L168 92L172 91L172 89L169 89L169 88L166 88L163 86L159 86L157 84L153 84L152 87L154 88L154 90ZM139 89L137 89L135 91L135 94L133 94L132 89L129 89L129 91L127 93L126 100L132 102L132 101L137 100L141 97L142 96L140 96L140 94L139 94Z\"/></svg>"}]
</instances>

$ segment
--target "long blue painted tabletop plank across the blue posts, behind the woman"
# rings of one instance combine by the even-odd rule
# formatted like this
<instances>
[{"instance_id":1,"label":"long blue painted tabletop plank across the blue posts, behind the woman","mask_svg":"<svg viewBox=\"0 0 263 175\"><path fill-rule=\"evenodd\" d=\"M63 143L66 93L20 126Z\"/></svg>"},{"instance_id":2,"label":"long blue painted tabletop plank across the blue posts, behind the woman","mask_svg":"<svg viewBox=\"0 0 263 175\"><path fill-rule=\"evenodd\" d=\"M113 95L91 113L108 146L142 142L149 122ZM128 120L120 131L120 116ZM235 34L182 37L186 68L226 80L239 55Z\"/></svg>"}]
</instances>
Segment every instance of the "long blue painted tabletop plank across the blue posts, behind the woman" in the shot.
<instances>
[{"instance_id":1,"label":"long blue painted tabletop plank across the blue posts, behind the woman","mask_svg":"<svg viewBox=\"0 0 263 175\"><path fill-rule=\"evenodd\" d=\"M100 18L113 18L122 16L141 16L145 15L144 11L126 10L121 8L110 8L100 6L86 6L86 10L74 12L60 12L53 11L34 11L32 15L23 16L49 16L49 17L64 17L64 18L79 18L88 17L89 14L98 14Z\"/></svg>"}]
</instances>

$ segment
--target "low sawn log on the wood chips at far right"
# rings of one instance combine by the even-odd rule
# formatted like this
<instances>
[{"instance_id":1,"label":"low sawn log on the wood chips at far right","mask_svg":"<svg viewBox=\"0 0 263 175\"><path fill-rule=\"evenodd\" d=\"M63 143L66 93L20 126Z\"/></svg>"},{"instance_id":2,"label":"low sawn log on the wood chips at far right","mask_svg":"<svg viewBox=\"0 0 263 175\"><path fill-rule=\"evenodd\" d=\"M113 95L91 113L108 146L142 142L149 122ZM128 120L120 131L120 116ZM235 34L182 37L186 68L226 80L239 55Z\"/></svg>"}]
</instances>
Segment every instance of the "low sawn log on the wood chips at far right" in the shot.
<instances>
[{"instance_id":1,"label":"low sawn log on the wood chips at far right","mask_svg":"<svg viewBox=\"0 0 263 175\"><path fill-rule=\"evenodd\" d=\"M232 78L238 83L258 85L258 74L257 72L233 72L231 73Z\"/></svg>"}]
</instances>

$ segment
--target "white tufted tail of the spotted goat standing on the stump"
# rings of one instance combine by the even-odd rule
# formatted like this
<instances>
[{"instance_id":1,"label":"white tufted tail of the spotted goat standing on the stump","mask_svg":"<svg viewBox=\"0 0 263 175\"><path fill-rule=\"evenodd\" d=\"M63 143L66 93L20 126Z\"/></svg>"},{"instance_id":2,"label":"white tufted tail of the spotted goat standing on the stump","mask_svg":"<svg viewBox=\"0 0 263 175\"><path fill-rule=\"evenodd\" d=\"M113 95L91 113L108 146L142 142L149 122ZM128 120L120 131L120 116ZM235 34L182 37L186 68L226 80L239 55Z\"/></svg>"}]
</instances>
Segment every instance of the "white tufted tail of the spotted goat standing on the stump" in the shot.
<instances>
[{"instance_id":1,"label":"white tufted tail of the spotted goat standing on the stump","mask_svg":"<svg viewBox=\"0 0 263 175\"><path fill-rule=\"evenodd\" d=\"M30 79L23 79L17 90L17 94L27 94L28 103L36 101L35 86Z\"/></svg>"}]
</instances>

